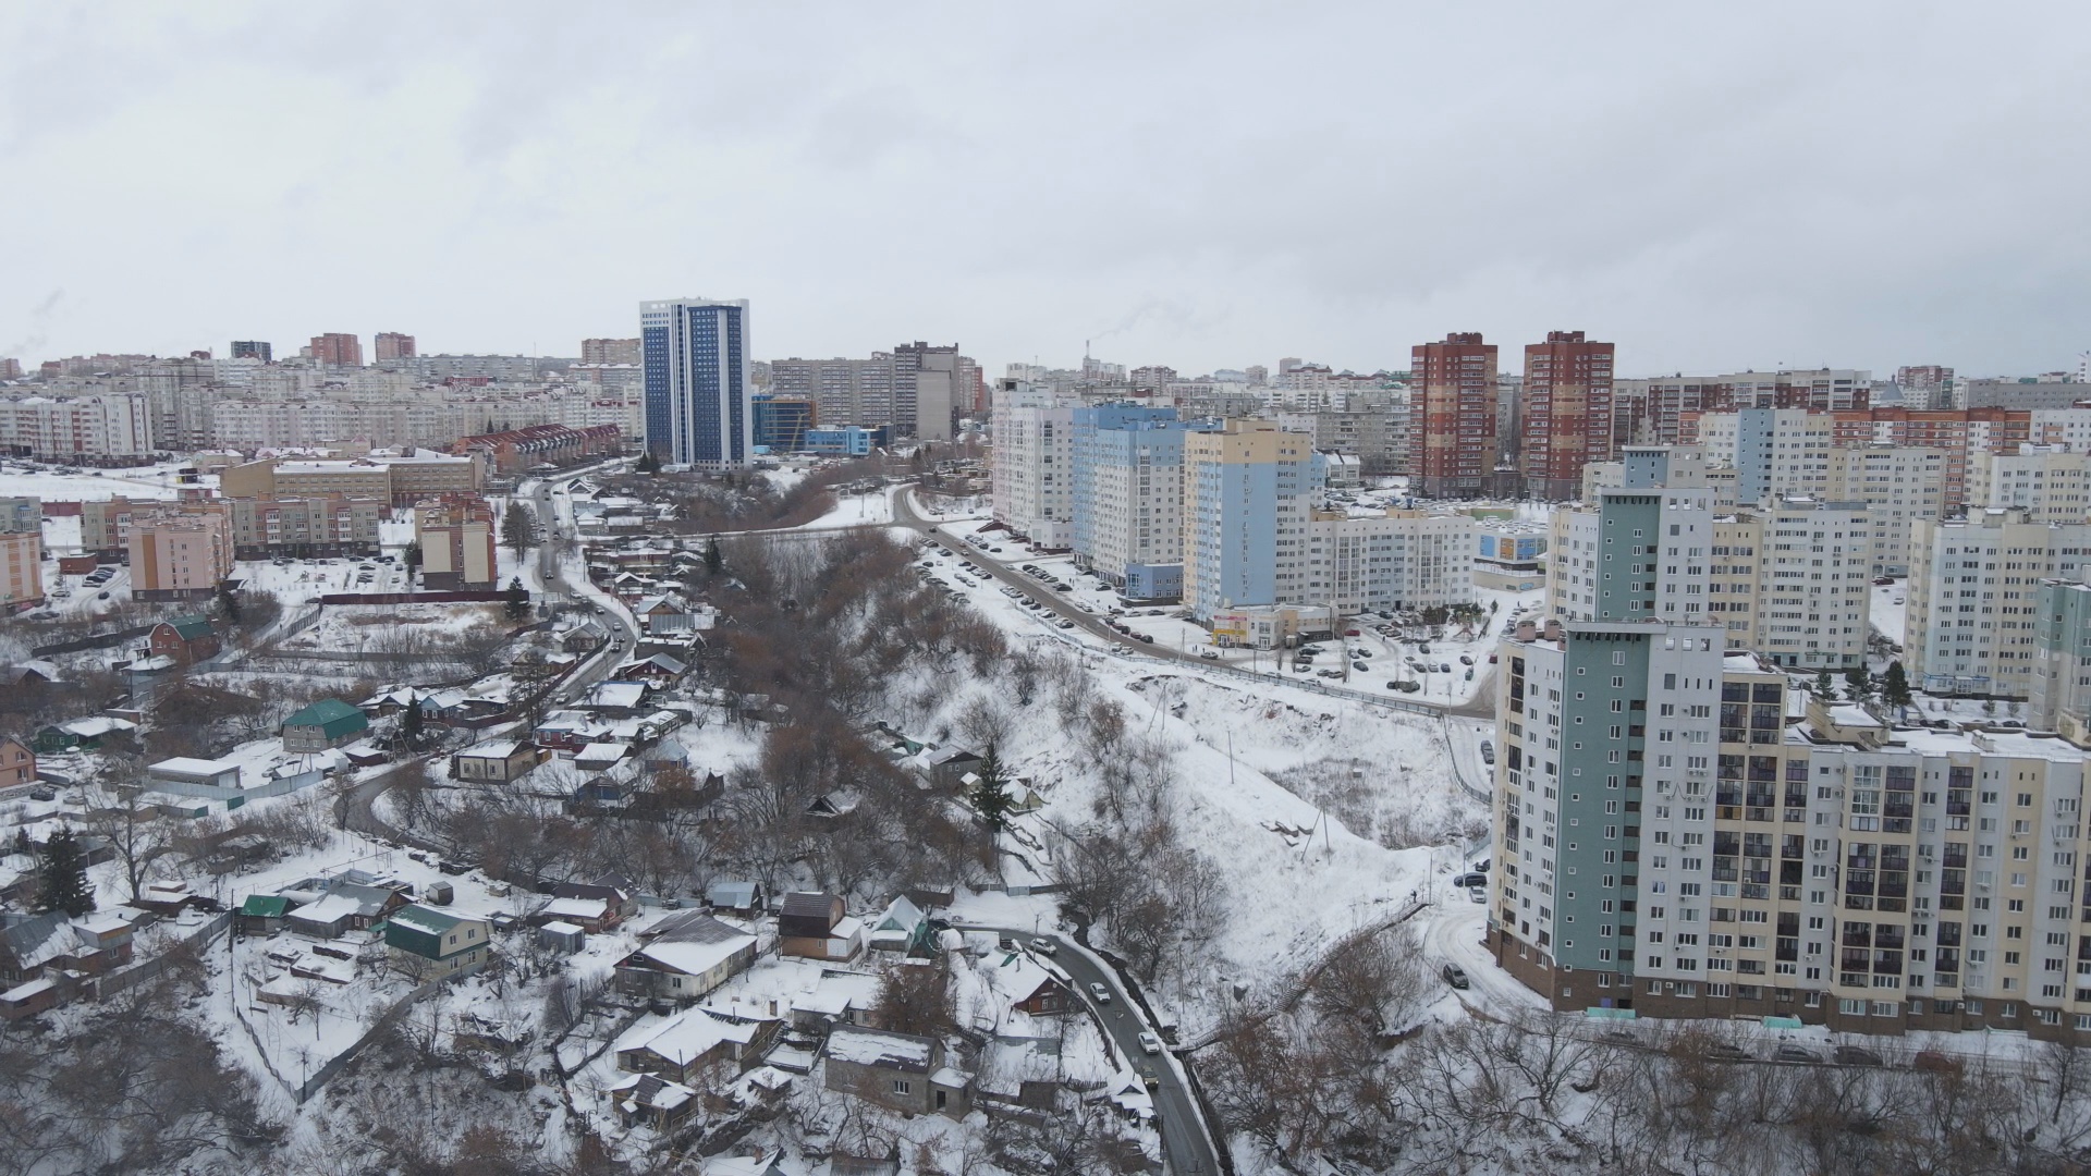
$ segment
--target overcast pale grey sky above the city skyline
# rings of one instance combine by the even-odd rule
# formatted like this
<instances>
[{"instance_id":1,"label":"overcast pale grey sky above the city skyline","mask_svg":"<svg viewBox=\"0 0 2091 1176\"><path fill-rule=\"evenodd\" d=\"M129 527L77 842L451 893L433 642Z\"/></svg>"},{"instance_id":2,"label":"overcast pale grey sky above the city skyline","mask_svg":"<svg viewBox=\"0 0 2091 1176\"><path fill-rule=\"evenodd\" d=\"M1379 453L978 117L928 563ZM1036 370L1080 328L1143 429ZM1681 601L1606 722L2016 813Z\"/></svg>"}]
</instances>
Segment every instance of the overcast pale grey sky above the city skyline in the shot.
<instances>
[{"instance_id":1,"label":"overcast pale grey sky above the city skyline","mask_svg":"<svg viewBox=\"0 0 2091 1176\"><path fill-rule=\"evenodd\" d=\"M0 356L2091 347L2091 6L8 4Z\"/></svg>"}]
</instances>

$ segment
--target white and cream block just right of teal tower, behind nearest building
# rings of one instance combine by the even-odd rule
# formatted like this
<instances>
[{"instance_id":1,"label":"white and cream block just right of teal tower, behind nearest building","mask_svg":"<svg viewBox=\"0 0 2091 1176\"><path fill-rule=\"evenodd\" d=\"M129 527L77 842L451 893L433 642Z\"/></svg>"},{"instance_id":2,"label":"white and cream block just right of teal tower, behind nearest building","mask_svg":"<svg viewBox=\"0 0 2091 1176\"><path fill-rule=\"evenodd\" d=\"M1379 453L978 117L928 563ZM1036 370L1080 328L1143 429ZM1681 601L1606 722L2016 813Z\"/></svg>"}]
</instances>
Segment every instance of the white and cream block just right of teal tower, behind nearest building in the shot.
<instances>
[{"instance_id":1,"label":"white and cream block just right of teal tower, behind nearest building","mask_svg":"<svg viewBox=\"0 0 2091 1176\"><path fill-rule=\"evenodd\" d=\"M1706 611L1727 626L1731 649L1794 670L1865 665L1874 571L1865 502L1779 498L1717 515L1713 534Z\"/></svg>"}]
</instances>

